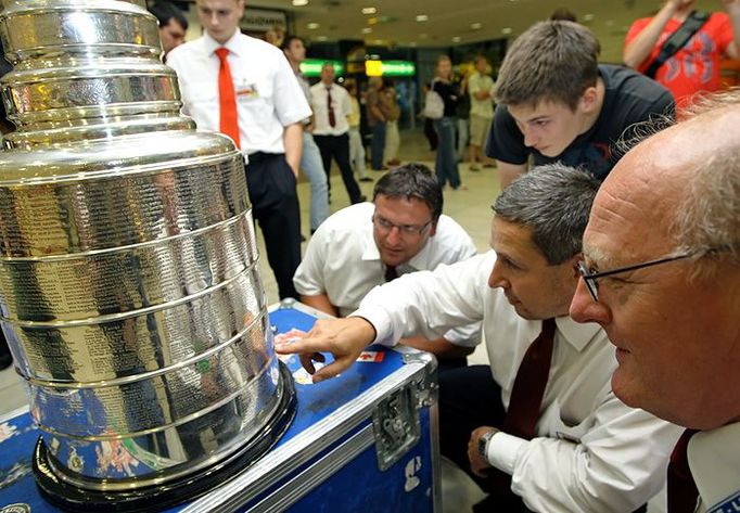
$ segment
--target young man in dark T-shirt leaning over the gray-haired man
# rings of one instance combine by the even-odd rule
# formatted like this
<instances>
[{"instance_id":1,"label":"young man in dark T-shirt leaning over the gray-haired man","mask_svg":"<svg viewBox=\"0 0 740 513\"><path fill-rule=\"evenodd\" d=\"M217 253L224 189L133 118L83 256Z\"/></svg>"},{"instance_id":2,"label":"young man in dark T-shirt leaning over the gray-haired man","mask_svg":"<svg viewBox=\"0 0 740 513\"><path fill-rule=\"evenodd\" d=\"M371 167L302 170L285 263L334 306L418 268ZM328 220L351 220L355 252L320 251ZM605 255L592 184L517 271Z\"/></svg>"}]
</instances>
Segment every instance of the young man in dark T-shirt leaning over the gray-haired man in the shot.
<instances>
[{"instance_id":1,"label":"young man in dark T-shirt leaning over the gray-haired man","mask_svg":"<svg viewBox=\"0 0 740 513\"><path fill-rule=\"evenodd\" d=\"M496 84L488 138L501 188L534 164L562 162L604 179L623 132L673 115L667 89L630 69L598 64L599 41L573 22L533 25L507 53Z\"/></svg>"}]
</instances>

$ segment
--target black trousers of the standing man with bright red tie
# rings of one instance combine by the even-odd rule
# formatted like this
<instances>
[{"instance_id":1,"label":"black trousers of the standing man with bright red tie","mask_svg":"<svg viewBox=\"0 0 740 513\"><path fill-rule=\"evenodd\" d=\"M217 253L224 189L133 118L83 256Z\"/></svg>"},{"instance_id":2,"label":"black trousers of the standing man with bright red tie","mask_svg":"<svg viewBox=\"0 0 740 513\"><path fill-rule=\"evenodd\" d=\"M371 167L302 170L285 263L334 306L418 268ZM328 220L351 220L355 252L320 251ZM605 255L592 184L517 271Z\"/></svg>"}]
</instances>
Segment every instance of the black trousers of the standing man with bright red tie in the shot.
<instances>
[{"instance_id":1,"label":"black trousers of the standing man with bright red tie","mask_svg":"<svg viewBox=\"0 0 740 513\"><path fill-rule=\"evenodd\" d=\"M280 298L298 297L293 274L301 264L301 209L295 175L282 153L254 153L246 165L252 214L259 223L267 261Z\"/></svg>"}]
</instances>

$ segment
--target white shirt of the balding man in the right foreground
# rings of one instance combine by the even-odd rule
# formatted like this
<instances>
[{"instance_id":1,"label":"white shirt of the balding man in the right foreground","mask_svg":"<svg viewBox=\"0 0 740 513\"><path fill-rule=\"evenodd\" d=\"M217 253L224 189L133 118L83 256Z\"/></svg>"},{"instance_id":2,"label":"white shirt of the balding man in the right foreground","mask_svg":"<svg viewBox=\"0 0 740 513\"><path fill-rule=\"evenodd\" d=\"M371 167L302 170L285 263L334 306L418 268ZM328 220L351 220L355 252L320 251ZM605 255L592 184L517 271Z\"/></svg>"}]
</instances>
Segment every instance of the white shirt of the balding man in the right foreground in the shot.
<instances>
[{"instance_id":1,"label":"white shirt of the balding man in the right foreground","mask_svg":"<svg viewBox=\"0 0 740 513\"><path fill-rule=\"evenodd\" d=\"M740 511L740 422L697 433L687 454L699 490L697 511Z\"/></svg>"}]
</instances>

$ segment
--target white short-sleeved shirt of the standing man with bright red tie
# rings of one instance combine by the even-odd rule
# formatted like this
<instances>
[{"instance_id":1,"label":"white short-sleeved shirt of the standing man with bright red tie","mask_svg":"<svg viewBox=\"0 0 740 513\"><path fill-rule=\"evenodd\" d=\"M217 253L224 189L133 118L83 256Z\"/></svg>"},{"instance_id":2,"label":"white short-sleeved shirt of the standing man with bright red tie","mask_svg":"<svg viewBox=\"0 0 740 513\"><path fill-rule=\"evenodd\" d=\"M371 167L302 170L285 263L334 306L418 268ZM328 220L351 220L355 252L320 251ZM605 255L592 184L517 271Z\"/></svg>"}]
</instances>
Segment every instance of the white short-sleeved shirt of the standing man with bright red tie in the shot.
<instances>
[{"instance_id":1,"label":"white short-sleeved shirt of the standing man with bright red tie","mask_svg":"<svg viewBox=\"0 0 740 513\"><path fill-rule=\"evenodd\" d=\"M224 47L229 50L242 152L284 153L284 127L311 114L285 55L239 30ZM167 65L175 68L180 82L182 111L201 130L219 131L218 48L205 33L167 55Z\"/></svg>"}]
</instances>

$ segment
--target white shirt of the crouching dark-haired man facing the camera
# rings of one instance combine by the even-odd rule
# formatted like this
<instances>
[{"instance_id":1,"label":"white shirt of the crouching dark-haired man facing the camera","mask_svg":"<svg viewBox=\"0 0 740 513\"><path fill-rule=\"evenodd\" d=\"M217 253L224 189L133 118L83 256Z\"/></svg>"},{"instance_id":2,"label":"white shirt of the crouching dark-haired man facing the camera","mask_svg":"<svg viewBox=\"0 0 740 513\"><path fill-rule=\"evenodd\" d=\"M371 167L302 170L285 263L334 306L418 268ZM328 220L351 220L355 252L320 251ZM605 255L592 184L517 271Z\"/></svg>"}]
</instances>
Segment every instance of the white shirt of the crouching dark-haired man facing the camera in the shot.
<instances>
[{"instance_id":1,"label":"white shirt of the crouching dark-haired man facing the camera","mask_svg":"<svg viewBox=\"0 0 740 513\"><path fill-rule=\"evenodd\" d=\"M357 309L362 297L385 282L385 266L372 235L372 203L358 203L333 214L311 236L303 261L293 277L299 294L327 294L342 317ZM475 255L470 235L447 216L437 231L409 261L396 267L398 275L435 269ZM480 342L480 323L445 333L445 339L472 347ZM435 336L436 338L436 336Z\"/></svg>"}]
</instances>

